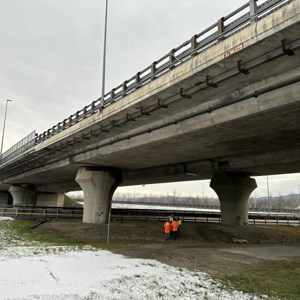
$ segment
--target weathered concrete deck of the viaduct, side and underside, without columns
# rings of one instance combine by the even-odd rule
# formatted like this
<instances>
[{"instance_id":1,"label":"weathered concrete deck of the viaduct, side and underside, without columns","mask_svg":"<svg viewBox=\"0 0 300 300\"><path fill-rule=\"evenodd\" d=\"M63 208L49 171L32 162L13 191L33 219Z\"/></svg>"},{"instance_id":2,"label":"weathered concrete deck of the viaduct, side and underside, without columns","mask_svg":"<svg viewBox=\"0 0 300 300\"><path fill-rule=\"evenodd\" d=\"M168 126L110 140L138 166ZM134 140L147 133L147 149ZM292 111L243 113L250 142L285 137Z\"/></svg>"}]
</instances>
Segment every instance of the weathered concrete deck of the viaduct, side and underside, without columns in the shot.
<instances>
[{"instance_id":1,"label":"weathered concrete deck of the viaduct, side and underside, without columns","mask_svg":"<svg viewBox=\"0 0 300 300\"><path fill-rule=\"evenodd\" d=\"M220 75L235 68L237 60L246 62L280 48L282 39L299 39L299 32L300 0L294 0L101 113L7 161L0 167L0 188L22 183L35 184L38 191L76 190L80 187L75 177L82 166L115 168L122 174L122 185L207 179L216 171L248 176L300 171L299 83L230 103L299 77L298 50L292 57L281 56L251 69L247 76L233 76L218 88L204 82L194 90L195 83L205 81L207 75ZM191 99L178 96L181 87L187 93L192 90ZM171 101L172 96L178 97ZM72 144L74 138L157 103L157 99L168 108ZM199 113L220 104L224 106ZM48 153L66 142L68 146Z\"/></svg>"}]
</instances>

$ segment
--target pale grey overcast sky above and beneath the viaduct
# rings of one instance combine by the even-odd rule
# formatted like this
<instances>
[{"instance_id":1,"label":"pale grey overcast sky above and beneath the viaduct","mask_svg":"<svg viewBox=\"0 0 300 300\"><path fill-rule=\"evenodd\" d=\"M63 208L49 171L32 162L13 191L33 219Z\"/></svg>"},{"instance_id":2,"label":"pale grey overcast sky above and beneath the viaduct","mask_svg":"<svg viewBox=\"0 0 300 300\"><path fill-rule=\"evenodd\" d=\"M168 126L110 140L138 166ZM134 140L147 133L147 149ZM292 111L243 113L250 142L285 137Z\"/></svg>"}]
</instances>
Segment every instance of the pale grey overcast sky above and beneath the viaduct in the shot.
<instances>
[{"instance_id":1,"label":"pale grey overcast sky above and beneath the viaduct","mask_svg":"<svg viewBox=\"0 0 300 300\"><path fill-rule=\"evenodd\" d=\"M245 0L108 0L105 91ZM3 150L40 133L101 93L105 0L0 0L0 128ZM257 195L265 195L265 177ZM207 180L148 185L141 192L212 195ZM299 174L270 177L273 193L297 191ZM141 187L137 187L141 188ZM120 188L127 191L129 187ZM132 188L131 188L132 189ZM149 191L149 190L151 191Z\"/></svg>"}]
</instances>

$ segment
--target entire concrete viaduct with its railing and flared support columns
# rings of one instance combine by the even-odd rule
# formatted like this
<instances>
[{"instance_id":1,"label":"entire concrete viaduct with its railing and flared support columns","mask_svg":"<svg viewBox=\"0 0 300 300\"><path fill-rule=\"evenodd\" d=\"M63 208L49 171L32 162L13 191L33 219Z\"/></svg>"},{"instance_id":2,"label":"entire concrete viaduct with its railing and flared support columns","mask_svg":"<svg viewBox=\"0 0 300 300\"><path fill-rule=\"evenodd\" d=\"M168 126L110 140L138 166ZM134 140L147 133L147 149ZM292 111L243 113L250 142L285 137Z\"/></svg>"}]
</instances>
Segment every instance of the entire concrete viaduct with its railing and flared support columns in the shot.
<instances>
[{"instance_id":1,"label":"entire concrete viaduct with its railing and flared support columns","mask_svg":"<svg viewBox=\"0 0 300 300\"><path fill-rule=\"evenodd\" d=\"M299 47L300 0L250 0L3 153L0 201L82 189L104 223L117 186L211 179L222 223L246 224L250 176L300 171Z\"/></svg>"}]
</instances>

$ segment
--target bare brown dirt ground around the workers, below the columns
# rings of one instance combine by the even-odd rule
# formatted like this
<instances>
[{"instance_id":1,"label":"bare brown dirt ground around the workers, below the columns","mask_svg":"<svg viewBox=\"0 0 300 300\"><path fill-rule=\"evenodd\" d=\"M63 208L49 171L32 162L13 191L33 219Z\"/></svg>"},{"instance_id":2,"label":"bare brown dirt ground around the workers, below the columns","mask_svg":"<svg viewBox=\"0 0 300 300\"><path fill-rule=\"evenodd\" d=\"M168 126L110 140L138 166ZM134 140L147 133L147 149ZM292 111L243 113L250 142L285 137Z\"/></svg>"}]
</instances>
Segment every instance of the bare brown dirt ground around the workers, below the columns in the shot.
<instances>
[{"instance_id":1,"label":"bare brown dirt ground around the workers, below the columns","mask_svg":"<svg viewBox=\"0 0 300 300\"><path fill-rule=\"evenodd\" d=\"M134 258L156 259L163 263L211 274L234 274L259 267L262 260L300 259L300 227L285 225L226 226L217 223L184 222L181 237L164 241L163 221L112 221L110 237L146 239L134 247L111 249ZM57 230L63 236L106 238L107 224L85 224L79 220L52 220L37 230ZM34 229L34 230L36 230ZM234 242L245 239L247 243Z\"/></svg>"}]
</instances>

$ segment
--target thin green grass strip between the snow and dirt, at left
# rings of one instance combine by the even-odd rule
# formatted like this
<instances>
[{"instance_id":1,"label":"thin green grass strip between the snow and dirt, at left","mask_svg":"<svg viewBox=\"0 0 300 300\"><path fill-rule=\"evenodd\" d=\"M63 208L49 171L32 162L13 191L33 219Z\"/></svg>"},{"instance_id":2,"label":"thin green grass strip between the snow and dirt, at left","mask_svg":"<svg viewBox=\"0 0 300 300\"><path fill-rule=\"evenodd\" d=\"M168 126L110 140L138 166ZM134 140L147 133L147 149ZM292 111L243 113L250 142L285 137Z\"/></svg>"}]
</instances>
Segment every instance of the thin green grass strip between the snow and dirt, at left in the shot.
<instances>
[{"instance_id":1,"label":"thin green grass strip between the snow and dirt, at left","mask_svg":"<svg viewBox=\"0 0 300 300\"><path fill-rule=\"evenodd\" d=\"M42 225L33 228L40 223L38 220L14 220L10 221L10 231L14 234L14 239L25 239L31 242L32 245L43 244L47 246L86 246L90 245L95 248L123 248L128 246L137 246L138 244L145 244L145 241L139 239L117 239L110 238L107 245L106 238L88 238L88 237L70 237L64 236L56 230L45 230ZM28 245L28 244L27 244Z\"/></svg>"}]
</instances>

